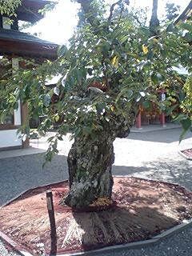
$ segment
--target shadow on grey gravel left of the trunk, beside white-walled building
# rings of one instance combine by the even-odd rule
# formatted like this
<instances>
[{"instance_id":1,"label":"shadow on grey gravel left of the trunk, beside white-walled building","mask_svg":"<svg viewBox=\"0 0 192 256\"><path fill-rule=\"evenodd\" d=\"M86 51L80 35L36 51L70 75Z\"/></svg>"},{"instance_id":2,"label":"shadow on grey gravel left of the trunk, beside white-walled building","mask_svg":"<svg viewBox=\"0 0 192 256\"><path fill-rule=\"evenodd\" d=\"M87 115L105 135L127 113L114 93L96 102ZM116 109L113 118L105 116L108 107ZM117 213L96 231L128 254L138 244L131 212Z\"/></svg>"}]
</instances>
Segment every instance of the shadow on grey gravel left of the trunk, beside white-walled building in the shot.
<instances>
[{"instance_id":1,"label":"shadow on grey gravel left of the trunk, beside white-walled building","mask_svg":"<svg viewBox=\"0 0 192 256\"><path fill-rule=\"evenodd\" d=\"M57 155L44 168L44 154L0 159L0 206L25 190L68 179L66 156Z\"/></svg>"}]
</instances>

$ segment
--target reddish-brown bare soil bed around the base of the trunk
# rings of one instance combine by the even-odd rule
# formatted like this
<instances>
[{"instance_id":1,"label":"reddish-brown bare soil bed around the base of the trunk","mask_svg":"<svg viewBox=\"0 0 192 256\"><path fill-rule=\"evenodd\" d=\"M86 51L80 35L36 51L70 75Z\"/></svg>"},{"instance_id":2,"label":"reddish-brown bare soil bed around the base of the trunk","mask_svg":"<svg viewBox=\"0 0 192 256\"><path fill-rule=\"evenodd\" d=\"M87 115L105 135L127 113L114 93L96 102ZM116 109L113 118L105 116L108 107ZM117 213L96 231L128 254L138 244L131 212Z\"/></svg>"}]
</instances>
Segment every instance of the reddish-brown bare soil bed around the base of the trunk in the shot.
<instances>
[{"instance_id":1,"label":"reddish-brown bare soil bed around the base of the trunk","mask_svg":"<svg viewBox=\"0 0 192 256\"><path fill-rule=\"evenodd\" d=\"M192 216L192 193L182 186L114 177L114 205L77 212L59 205L68 183L38 187L0 210L0 230L33 255L50 254L46 189L52 189L58 253L92 250L153 237Z\"/></svg>"}]
</instances>

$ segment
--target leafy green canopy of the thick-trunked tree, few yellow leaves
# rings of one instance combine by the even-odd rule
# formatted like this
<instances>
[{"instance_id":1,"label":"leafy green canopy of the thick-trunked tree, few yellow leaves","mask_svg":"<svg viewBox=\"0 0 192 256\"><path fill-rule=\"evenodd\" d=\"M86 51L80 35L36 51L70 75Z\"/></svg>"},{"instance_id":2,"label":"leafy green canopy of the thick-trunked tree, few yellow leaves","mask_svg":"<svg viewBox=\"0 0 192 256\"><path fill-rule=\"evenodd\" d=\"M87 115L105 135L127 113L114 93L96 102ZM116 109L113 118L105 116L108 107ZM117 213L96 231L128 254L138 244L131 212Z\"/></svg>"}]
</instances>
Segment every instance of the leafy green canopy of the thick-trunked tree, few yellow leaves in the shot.
<instances>
[{"instance_id":1,"label":"leafy green canopy of the thick-trunked tree, few yellow leaves","mask_svg":"<svg viewBox=\"0 0 192 256\"><path fill-rule=\"evenodd\" d=\"M9 106L10 97L12 107L17 106L18 98L21 98L31 102L34 117L47 114L47 126L51 126L60 115L65 115L66 122L62 126L70 125L70 130L76 135L100 129L98 116L99 120L110 120L118 111L126 114L126 107L129 108L132 102L137 102L135 106L140 102L149 105L149 100L156 97L151 92L160 84L163 87L176 86L178 74L172 67L178 63L191 72L189 23L178 26L170 23L161 28L157 36L151 37L148 27L137 26L128 15L122 15L129 4L127 1L118 1L111 6L107 18L105 9L99 8L99 1L78 2L82 4L82 15L87 22L78 27L70 39L70 47L60 47L55 62L44 62L41 66L34 64L30 70L20 68L10 81L6 81L6 84L10 83L6 86L8 94L2 91ZM114 7L118 7L115 15ZM55 104L57 114L53 115L49 104L56 89L47 91L45 85L47 79L58 74L62 74L57 85L62 99ZM107 94L100 92L91 98L91 89L87 88L95 81L107 87ZM166 104L170 104L158 103L163 110ZM107 113L103 115L101 110L107 110ZM82 118L84 113L85 120ZM82 119L83 129L79 122Z\"/></svg>"}]
</instances>

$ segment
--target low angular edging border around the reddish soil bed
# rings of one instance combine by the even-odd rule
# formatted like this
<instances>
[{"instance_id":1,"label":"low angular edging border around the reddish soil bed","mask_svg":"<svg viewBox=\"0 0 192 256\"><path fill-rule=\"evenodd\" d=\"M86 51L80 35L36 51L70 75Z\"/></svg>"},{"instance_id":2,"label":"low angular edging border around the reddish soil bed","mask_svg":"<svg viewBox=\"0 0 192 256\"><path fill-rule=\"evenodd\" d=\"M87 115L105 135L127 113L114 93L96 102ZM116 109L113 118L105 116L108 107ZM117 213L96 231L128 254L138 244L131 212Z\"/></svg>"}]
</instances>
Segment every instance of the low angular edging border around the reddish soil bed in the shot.
<instances>
[{"instance_id":1,"label":"low angular edging border around the reddish soil bed","mask_svg":"<svg viewBox=\"0 0 192 256\"><path fill-rule=\"evenodd\" d=\"M126 177L122 175L114 175L114 177ZM130 176L131 177L131 176ZM134 177L135 178L135 177ZM143 180L149 180L149 181L154 181L152 179L146 179L146 178L141 178ZM67 180L62 180L60 182L66 182ZM54 182L51 184L57 184L59 182ZM165 184L172 184L174 186L180 186L176 183L170 183L170 182L162 182ZM43 186L48 186L50 184L46 184ZM43 186L38 186L38 187L43 187ZM33 190L37 187L31 188L30 190ZM185 187L184 187L185 188ZM185 188L186 189L186 188ZM187 190L187 189L186 189ZM3 206L8 205L10 202L14 201L18 197L20 197L22 194L26 193L29 190L25 190L22 193L18 194L16 197L12 198L9 202L6 202L4 205L0 207L0 210ZM111 251L119 251L119 250L125 250L125 249L138 249L141 247L146 247L146 246L152 246L158 242L162 242L164 238L170 237L173 234L176 234L184 229L186 229L188 226L192 225L192 218L189 220L183 220L181 224L178 224L177 226L174 226L170 228L169 230L163 231L162 234L158 234L154 236L153 238L147 239L147 240L142 240L138 242L130 242L130 243L125 243L122 245L118 246L106 246L102 249L97 249L97 250L89 250L89 251L84 251L84 252L78 252L78 253L66 253L66 254L57 254L58 256L78 256L78 255L89 255L89 254L102 254L102 253L109 253ZM0 230L0 238L2 239L3 242L6 242L13 250L15 250L18 254L22 256L34 256L33 254L30 254L30 252L27 251L27 249L23 246L20 246L17 242L14 242L14 240L10 239L6 234L2 233Z\"/></svg>"}]
</instances>

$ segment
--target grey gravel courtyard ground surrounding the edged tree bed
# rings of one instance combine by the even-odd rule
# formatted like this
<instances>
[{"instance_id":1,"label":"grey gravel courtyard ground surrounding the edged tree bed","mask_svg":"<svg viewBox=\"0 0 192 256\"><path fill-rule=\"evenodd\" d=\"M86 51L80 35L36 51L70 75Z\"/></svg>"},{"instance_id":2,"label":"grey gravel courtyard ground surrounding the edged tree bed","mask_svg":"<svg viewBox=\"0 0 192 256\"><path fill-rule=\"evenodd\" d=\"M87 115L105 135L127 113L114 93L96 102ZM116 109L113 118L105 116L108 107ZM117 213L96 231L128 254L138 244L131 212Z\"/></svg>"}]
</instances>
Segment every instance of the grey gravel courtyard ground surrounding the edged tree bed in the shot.
<instances>
[{"instance_id":1,"label":"grey gravel courtyard ground surrounding the edged tree bed","mask_svg":"<svg viewBox=\"0 0 192 256\"><path fill-rule=\"evenodd\" d=\"M182 158L178 150L191 148L191 134L178 145L181 129L161 130L146 133L132 133L129 138L114 142L116 175L133 175L179 183L192 190L192 161ZM46 148L46 138L33 141L33 146ZM58 182L67 178L66 155L71 142L68 138L58 145L59 155L42 169L42 154L0 159L0 205L34 186ZM188 228L155 246L134 250L112 251L101 256L190 256L192 254L192 228ZM8 253L0 242L0 256L18 256ZM35 255L38 256L38 255Z\"/></svg>"}]
</instances>

